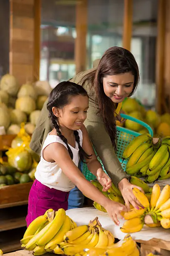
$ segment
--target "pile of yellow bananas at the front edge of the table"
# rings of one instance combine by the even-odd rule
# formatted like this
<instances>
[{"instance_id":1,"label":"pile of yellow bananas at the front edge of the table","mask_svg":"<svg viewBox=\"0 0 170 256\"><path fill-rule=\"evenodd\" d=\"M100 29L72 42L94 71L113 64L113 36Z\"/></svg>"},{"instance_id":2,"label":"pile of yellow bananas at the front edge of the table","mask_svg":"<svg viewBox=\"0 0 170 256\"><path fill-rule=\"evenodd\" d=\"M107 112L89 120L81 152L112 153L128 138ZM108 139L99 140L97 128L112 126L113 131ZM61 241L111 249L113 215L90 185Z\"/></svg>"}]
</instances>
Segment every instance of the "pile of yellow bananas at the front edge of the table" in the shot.
<instances>
[{"instance_id":1,"label":"pile of yellow bananas at the front edge of the table","mask_svg":"<svg viewBox=\"0 0 170 256\"><path fill-rule=\"evenodd\" d=\"M109 230L102 228L98 218L88 225L77 226L65 210L49 209L30 223L21 247L42 255L54 252L62 255L121 255L139 256L139 250L130 235L117 243Z\"/></svg>"}]
</instances>

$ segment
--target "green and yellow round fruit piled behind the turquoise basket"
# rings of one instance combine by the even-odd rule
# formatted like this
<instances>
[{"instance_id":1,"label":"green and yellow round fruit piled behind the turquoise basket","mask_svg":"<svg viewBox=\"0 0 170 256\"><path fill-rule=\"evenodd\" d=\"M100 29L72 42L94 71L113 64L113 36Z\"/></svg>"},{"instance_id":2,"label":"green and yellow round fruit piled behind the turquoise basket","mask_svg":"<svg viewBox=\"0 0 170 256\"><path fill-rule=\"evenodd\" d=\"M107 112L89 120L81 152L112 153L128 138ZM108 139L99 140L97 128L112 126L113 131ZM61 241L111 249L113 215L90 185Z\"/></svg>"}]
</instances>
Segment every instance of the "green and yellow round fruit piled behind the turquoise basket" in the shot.
<instances>
[{"instance_id":1,"label":"green and yellow round fruit piled behind the turquoise basket","mask_svg":"<svg viewBox=\"0 0 170 256\"><path fill-rule=\"evenodd\" d=\"M153 110L146 110L135 98L126 98L122 102L122 110L127 115L137 118L150 125L150 127L153 129L154 137L159 136L163 138L165 136L170 136L170 113L158 115L158 113ZM148 132L148 130L142 125L131 120L126 120L123 124L117 122L117 125L125 126L125 128L137 131L139 133Z\"/></svg>"}]
</instances>

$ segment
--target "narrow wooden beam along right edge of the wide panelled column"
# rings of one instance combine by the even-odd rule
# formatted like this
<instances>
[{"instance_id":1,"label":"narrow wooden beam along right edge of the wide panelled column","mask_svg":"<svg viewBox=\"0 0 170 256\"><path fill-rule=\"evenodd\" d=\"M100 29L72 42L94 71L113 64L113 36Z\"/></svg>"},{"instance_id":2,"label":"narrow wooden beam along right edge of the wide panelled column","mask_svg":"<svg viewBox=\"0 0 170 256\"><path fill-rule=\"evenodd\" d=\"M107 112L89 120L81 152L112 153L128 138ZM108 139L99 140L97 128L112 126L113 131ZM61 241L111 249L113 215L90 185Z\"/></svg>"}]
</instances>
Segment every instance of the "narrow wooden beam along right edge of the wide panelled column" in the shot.
<instances>
[{"instance_id":1,"label":"narrow wooden beam along right edge of the wide panelled column","mask_svg":"<svg viewBox=\"0 0 170 256\"><path fill-rule=\"evenodd\" d=\"M40 25L41 25L41 0L34 0L34 66L33 81L40 77Z\"/></svg>"}]
</instances>

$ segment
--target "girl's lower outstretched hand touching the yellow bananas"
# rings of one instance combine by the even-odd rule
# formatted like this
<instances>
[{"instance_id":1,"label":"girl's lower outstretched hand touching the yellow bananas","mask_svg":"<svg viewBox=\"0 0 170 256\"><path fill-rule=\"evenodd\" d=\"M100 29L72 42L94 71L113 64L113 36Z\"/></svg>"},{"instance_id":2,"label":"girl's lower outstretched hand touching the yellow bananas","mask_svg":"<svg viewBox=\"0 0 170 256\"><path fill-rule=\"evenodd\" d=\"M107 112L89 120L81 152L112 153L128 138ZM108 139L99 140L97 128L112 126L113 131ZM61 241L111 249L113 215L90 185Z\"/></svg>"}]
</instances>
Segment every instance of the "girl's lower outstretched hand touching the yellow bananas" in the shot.
<instances>
[{"instance_id":1,"label":"girl's lower outstretched hand touching the yellow bananas","mask_svg":"<svg viewBox=\"0 0 170 256\"><path fill-rule=\"evenodd\" d=\"M120 221L118 219L123 219L121 212L127 212L127 207L125 205L122 205L119 202L114 202L112 200L110 200L110 202L107 202L105 209L107 210L110 218L117 226L120 224Z\"/></svg>"}]
</instances>

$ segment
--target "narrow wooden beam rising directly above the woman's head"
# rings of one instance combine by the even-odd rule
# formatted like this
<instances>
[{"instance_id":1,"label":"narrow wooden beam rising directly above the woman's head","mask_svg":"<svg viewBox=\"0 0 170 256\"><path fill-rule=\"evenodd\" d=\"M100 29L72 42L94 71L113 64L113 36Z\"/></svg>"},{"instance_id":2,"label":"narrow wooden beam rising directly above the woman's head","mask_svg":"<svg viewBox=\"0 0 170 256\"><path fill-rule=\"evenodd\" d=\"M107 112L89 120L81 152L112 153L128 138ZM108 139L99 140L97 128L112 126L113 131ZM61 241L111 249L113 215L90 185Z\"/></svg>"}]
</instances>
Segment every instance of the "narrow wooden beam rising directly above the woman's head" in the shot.
<instances>
[{"instance_id":1,"label":"narrow wooden beam rising directly above the woman's head","mask_svg":"<svg viewBox=\"0 0 170 256\"><path fill-rule=\"evenodd\" d=\"M124 0L123 48L130 51L133 26L133 0Z\"/></svg>"}]
</instances>

